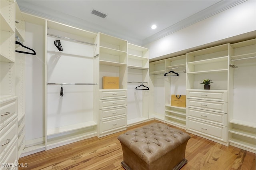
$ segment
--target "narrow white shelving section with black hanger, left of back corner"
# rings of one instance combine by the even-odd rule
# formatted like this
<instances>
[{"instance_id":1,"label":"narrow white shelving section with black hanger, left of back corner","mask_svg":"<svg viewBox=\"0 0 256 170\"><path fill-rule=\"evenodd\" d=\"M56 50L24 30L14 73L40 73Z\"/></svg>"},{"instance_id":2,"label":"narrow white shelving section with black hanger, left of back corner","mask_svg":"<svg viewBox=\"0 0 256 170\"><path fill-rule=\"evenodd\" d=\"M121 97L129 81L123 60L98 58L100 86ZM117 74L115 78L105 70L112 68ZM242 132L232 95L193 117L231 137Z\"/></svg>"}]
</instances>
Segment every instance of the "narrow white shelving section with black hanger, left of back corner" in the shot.
<instances>
[{"instance_id":1,"label":"narrow white shelving section with black hanger, left of back corner","mask_svg":"<svg viewBox=\"0 0 256 170\"><path fill-rule=\"evenodd\" d=\"M128 126L148 121L149 91L135 88L149 85L149 50L128 43ZM142 87L141 89L146 89Z\"/></svg>"}]
</instances>

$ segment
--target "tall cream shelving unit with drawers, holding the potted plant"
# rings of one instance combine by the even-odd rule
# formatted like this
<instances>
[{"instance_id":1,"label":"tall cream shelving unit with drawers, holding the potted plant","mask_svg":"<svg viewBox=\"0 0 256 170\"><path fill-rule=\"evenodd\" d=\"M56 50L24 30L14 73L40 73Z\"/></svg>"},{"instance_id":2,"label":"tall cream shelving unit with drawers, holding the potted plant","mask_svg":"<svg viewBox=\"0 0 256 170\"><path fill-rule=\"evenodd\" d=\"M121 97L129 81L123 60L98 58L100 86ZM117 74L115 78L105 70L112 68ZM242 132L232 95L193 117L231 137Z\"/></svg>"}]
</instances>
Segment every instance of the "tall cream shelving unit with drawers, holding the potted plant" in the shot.
<instances>
[{"instance_id":1,"label":"tall cream shelving unit with drawers, holding the potted plant","mask_svg":"<svg viewBox=\"0 0 256 170\"><path fill-rule=\"evenodd\" d=\"M187 53L186 130L228 146L228 114L233 94L230 44ZM211 79L210 90L201 81ZM228 104L229 103L229 104ZM229 108L228 108L229 107Z\"/></svg>"}]
</instances>

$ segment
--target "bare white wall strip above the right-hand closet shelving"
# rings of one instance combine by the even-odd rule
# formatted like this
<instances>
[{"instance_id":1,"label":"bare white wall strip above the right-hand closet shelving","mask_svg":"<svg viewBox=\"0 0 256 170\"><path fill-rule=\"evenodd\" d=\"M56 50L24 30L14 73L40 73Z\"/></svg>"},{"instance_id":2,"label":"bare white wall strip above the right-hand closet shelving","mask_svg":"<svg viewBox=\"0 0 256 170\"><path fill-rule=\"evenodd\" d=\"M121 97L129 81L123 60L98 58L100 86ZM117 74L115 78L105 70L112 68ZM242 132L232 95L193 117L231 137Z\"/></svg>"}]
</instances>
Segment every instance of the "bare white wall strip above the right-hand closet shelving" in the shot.
<instances>
[{"instance_id":1,"label":"bare white wall strip above the right-hand closet shelving","mask_svg":"<svg viewBox=\"0 0 256 170\"><path fill-rule=\"evenodd\" d=\"M248 0L156 40L146 47L150 49L150 59L153 59L255 30L256 1Z\"/></svg>"}]
</instances>

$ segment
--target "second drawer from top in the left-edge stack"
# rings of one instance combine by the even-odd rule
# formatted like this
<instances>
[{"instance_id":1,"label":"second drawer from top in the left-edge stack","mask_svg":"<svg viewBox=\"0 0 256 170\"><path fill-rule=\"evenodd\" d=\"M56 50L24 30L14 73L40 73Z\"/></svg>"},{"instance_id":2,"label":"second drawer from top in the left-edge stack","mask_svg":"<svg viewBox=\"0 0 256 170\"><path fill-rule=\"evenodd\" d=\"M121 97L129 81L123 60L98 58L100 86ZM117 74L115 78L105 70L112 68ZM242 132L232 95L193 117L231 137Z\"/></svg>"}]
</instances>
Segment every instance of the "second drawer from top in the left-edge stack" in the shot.
<instances>
[{"instance_id":1,"label":"second drawer from top in the left-edge stack","mask_svg":"<svg viewBox=\"0 0 256 170\"><path fill-rule=\"evenodd\" d=\"M14 119L10 124L0 131L0 157L6 155L7 150L18 138L18 119Z\"/></svg>"}]
</instances>

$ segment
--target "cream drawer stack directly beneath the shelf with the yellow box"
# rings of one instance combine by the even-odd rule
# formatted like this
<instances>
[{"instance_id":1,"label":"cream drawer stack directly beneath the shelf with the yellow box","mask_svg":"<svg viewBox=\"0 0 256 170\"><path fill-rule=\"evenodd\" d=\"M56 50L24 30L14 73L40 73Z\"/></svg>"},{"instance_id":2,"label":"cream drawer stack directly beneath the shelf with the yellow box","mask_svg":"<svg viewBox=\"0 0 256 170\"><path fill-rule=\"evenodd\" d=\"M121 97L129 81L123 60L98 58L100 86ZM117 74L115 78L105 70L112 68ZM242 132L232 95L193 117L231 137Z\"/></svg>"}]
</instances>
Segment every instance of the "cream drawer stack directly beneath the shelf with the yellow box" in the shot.
<instances>
[{"instance_id":1,"label":"cream drawer stack directly beneath the shelf with the yellow box","mask_svg":"<svg viewBox=\"0 0 256 170\"><path fill-rule=\"evenodd\" d=\"M100 90L99 132L102 137L127 129L127 91Z\"/></svg>"}]
</instances>

